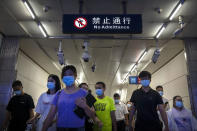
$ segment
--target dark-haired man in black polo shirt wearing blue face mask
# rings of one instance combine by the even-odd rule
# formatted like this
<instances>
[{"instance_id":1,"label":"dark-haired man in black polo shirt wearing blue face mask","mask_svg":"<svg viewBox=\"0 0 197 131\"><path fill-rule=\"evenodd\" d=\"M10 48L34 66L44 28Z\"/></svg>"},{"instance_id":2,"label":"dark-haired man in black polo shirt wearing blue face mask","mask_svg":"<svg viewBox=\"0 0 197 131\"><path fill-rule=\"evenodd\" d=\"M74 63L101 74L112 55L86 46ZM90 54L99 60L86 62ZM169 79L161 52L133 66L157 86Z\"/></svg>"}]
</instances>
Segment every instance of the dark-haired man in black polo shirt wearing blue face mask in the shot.
<instances>
[{"instance_id":1,"label":"dark-haired man in black polo shirt wearing blue face mask","mask_svg":"<svg viewBox=\"0 0 197 131\"><path fill-rule=\"evenodd\" d=\"M135 131L162 131L162 122L157 114L157 107L165 124L164 131L168 129L168 119L163 107L163 101L159 93L150 88L151 74L142 71L139 74L142 87L133 92L130 101L133 103L130 112L130 130L133 116L137 111L137 119L135 122Z\"/></svg>"}]
</instances>

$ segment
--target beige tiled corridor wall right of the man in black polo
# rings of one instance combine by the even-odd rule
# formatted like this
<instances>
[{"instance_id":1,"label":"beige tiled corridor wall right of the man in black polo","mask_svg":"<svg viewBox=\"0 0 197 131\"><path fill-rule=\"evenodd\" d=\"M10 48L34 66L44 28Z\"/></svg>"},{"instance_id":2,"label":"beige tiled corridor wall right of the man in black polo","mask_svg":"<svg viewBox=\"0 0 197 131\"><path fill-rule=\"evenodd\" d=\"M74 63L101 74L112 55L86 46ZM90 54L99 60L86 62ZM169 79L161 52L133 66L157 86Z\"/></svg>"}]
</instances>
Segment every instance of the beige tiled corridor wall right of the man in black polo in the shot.
<instances>
[{"instance_id":1,"label":"beige tiled corridor wall right of the man in black polo","mask_svg":"<svg viewBox=\"0 0 197 131\"><path fill-rule=\"evenodd\" d=\"M151 87L155 89L157 85L164 87L164 97L169 100L170 107L172 98L180 95L183 97L185 107L191 109L184 51L152 75Z\"/></svg>"}]
</instances>

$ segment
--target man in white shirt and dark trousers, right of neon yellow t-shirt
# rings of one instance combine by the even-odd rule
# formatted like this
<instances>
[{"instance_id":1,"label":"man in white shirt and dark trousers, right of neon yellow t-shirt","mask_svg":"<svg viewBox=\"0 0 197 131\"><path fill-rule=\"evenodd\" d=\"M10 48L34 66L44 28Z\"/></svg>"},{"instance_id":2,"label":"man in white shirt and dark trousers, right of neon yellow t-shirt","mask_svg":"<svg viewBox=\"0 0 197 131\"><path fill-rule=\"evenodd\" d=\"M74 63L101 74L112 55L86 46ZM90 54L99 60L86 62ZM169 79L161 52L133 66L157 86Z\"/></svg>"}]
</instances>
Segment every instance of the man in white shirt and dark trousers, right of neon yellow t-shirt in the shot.
<instances>
[{"instance_id":1,"label":"man in white shirt and dark trousers, right of neon yellow t-shirt","mask_svg":"<svg viewBox=\"0 0 197 131\"><path fill-rule=\"evenodd\" d=\"M129 125L128 123L128 109L127 106L120 102L120 95L118 93L114 94L114 101L115 101L115 115L116 115L116 123L118 131L125 131L126 126Z\"/></svg>"}]
</instances>

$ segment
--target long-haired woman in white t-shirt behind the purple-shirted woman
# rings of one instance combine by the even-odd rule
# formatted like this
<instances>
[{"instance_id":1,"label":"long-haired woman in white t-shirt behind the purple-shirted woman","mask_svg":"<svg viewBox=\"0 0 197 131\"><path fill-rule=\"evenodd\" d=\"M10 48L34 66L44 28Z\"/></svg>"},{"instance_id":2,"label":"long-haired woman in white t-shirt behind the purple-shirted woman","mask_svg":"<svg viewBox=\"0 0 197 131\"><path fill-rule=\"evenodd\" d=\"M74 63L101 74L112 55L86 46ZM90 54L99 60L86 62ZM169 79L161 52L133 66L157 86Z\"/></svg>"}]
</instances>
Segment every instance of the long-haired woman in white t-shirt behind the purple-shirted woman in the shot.
<instances>
[{"instance_id":1,"label":"long-haired woman in white t-shirt behind the purple-shirted woman","mask_svg":"<svg viewBox=\"0 0 197 131\"><path fill-rule=\"evenodd\" d=\"M49 75L47 88L48 88L48 91L41 94L41 96L39 97L38 103L35 109L36 115L31 120L32 122L34 122L38 117L40 117L36 126L36 131L42 130L43 122L46 119L47 114L49 113L49 110L51 107L51 102L54 99L56 92L61 89L60 80L58 76L53 75L53 74ZM48 129L48 131L55 131L55 130L56 130L56 124L54 120L50 128Z\"/></svg>"}]
</instances>

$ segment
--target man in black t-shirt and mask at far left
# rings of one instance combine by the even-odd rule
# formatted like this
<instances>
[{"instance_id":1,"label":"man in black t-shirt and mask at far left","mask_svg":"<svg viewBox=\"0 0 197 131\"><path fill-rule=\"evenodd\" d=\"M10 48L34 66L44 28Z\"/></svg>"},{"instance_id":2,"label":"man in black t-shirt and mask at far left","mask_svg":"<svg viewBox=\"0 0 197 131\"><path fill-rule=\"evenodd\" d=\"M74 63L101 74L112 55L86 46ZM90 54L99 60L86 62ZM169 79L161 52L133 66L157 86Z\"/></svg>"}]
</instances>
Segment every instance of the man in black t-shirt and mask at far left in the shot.
<instances>
[{"instance_id":1,"label":"man in black t-shirt and mask at far left","mask_svg":"<svg viewBox=\"0 0 197 131\"><path fill-rule=\"evenodd\" d=\"M23 92L21 81L14 81L12 88L15 96L10 99L6 108L3 130L8 128L8 131L25 131L27 121L34 116L34 102L30 95Z\"/></svg>"}]
</instances>

